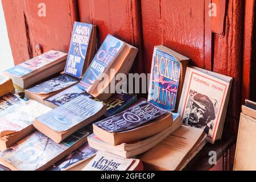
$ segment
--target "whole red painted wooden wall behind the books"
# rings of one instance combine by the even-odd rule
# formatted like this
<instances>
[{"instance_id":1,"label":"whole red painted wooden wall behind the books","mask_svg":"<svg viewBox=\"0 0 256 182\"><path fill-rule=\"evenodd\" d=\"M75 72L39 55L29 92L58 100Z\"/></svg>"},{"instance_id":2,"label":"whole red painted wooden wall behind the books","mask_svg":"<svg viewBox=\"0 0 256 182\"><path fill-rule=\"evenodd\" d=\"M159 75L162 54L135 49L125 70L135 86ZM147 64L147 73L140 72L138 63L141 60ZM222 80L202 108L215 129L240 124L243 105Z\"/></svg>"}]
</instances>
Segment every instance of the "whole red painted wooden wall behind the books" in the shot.
<instances>
[{"instance_id":1,"label":"whole red painted wooden wall behind the books","mask_svg":"<svg viewBox=\"0 0 256 182\"><path fill-rule=\"evenodd\" d=\"M38 3L46 3L39 17ZM209 16L209 3L217 16ZM150 72L152 51L163 44L192 64L234 78L225 132L237 132L241 104L255 99L255 0L2 0L15 64L48 49L68 51L75 20L139 48L134 72ZM14 13L15 12L15 13Z\"/></svg>"}]
</instances>

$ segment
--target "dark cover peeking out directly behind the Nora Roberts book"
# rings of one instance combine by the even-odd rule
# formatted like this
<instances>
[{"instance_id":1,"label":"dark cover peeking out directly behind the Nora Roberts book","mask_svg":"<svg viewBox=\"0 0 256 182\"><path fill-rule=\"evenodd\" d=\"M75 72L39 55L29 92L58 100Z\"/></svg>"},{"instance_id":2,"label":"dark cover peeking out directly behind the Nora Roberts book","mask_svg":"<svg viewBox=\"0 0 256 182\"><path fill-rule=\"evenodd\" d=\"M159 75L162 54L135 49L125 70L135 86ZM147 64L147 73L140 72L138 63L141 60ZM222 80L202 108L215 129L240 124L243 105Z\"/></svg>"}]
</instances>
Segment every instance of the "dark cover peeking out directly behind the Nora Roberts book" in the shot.
<instances>
[{"instance_id":1,"label":"dark cover peeking out directly behind the Nora Roberts book","mask_svg":"<svg viewBox=\"0 0 256 182\"><path fill-rule=\"evenodd\" d=\"M104 101L104 104L107 106L107 111L104 116L110 117L117 114L129 107L135 101L137 101L137 96L134 94L114 94L113 97L110 97L108 100Z\"/></svg>"}]
</instances>

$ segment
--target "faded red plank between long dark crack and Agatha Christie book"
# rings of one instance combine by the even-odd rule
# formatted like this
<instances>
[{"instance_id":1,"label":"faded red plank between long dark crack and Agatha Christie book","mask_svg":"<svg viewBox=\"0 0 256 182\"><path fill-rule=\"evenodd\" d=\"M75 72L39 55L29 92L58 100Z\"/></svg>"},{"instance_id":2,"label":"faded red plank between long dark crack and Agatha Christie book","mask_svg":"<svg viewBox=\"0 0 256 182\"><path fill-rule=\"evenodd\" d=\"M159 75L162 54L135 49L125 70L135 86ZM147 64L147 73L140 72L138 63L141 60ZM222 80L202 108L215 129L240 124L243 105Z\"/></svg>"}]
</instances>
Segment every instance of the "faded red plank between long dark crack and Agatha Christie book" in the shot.
<instances>
[{"instance_id":1,"label":"faded red plank between long dark crack and Agatha Christie book","mask_svg":"<svg viewBox=\"0 0 256 182\"><path fill-rule=\"evenodd\" d=\"M43 51L57 49L68 52L73 23L78 20L75 0L25 0L30 22L32 44L42 46ZM39 16L39 3L46 5L46 16Z\"/></svg>"}]
</instances>

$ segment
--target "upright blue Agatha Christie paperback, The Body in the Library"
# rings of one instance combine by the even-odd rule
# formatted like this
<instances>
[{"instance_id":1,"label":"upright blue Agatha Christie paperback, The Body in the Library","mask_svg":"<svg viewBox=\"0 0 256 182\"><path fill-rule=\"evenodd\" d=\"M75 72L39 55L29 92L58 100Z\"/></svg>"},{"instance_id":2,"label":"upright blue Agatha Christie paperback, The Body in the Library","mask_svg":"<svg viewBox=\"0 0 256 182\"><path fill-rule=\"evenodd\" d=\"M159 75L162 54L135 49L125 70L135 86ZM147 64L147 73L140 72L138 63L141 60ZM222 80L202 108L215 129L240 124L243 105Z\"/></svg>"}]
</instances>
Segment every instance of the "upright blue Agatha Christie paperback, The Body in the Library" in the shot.
<instances>
[{"instance_id":1,"label":"upright blue Agatha Christie paperback, The Body in the Library","mask_svg":"<svg viewBox=\"0 0 256 182\"><path fill-rule=\"evenodd\" d=\"M94 56L95 42L96 27L75 22L64 72L77 78L82 77Z\"/></svg>"}]
</instances>

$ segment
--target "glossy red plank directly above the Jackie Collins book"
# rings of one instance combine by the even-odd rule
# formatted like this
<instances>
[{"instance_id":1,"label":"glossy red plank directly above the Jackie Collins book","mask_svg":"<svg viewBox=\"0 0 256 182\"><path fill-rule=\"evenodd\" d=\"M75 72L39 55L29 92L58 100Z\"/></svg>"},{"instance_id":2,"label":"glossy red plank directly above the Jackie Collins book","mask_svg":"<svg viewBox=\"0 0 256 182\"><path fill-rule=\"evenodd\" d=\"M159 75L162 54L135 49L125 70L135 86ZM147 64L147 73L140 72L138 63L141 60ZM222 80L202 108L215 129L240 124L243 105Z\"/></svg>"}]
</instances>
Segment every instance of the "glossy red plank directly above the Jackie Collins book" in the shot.
<instances>
[{"instance_id":1,"label":"glossy red plank directly above the Jackie Collins book","mask_svg":"<svg viewBox=\"0 0 256 182\"><path fill-rule=\"evenodd\" d=\"M205 2L198 0L142 0L143 57L146 72L154 46L163 44L204 68Z\"/></svg>"}]
</instances>

